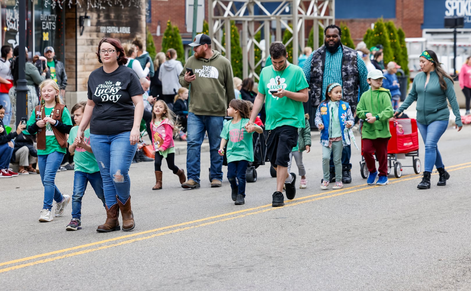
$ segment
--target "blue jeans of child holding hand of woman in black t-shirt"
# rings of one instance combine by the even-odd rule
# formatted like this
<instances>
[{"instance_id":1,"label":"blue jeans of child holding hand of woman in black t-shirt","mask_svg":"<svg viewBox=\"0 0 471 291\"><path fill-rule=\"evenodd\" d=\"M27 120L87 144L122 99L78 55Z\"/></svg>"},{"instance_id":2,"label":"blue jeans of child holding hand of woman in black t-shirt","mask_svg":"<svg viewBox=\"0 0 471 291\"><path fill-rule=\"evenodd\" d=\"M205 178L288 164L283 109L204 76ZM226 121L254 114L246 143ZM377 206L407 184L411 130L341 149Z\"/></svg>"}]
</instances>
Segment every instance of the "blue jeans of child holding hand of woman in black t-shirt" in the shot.
<instances>
[{"instance_id":1,"label":"blue jeans of child holding hand of woman in black t-shirt","mask_svg":"<svg viewBox=\"0 0 471 291\"><path fill-rule=\"evenodd\" d=\"M105 206L105 194L103 194L103 180L101 179L100 172L85 173L75 171L73 174L73 194L72 194L72 218L81 218L82 198L87 189L87 184L90 182L95 194L103 202Z\"/></svg>"}]
</instances>

